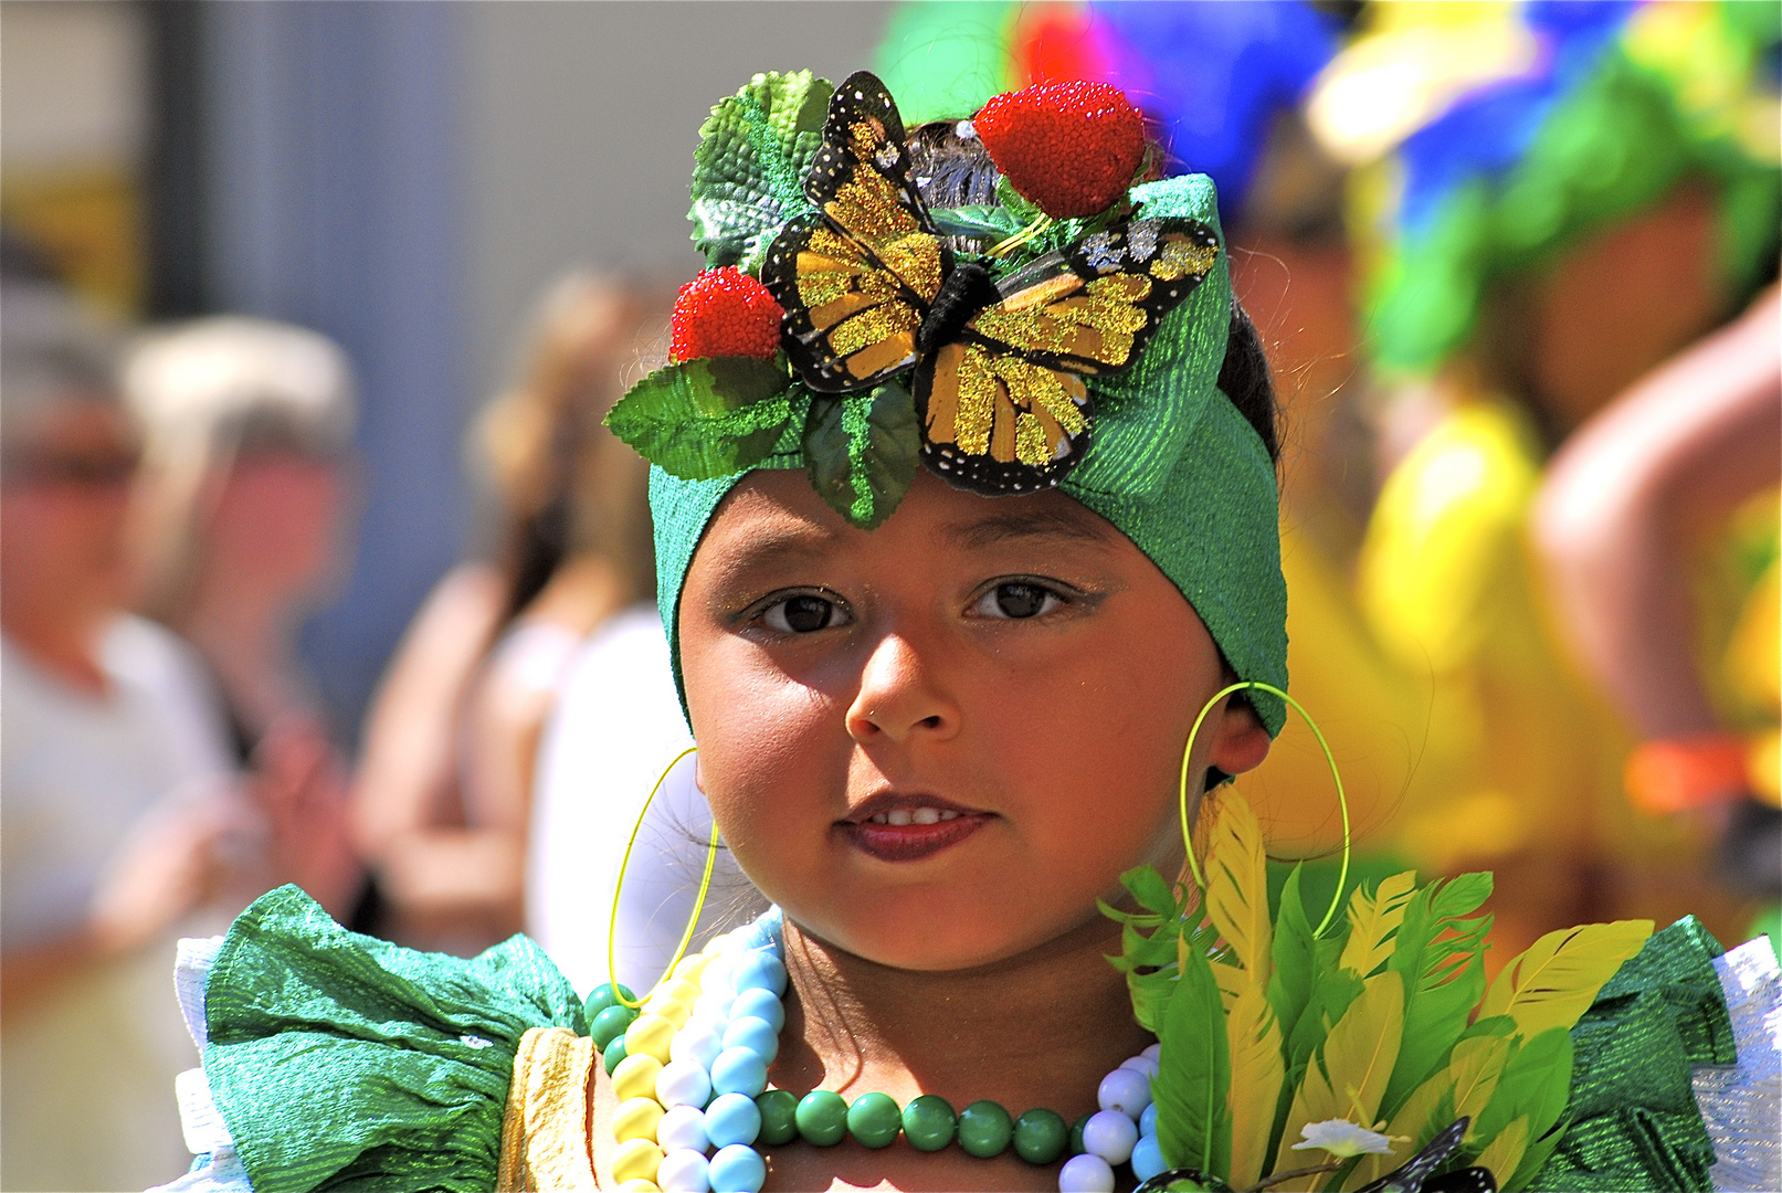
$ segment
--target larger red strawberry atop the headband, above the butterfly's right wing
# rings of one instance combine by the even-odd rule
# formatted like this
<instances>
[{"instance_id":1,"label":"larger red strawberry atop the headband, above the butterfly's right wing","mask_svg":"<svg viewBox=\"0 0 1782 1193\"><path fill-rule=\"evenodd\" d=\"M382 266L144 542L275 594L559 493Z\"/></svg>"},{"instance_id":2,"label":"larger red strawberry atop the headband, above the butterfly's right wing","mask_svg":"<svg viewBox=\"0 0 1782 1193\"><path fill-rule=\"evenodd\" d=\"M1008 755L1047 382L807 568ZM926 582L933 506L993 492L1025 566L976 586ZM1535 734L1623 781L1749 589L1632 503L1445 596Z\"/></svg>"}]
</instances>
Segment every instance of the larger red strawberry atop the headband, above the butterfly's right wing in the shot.
<instances>
[{"instance_id":1,"label":"larger red strawberry atop the headband, above the butterfly's right wing","mask_svg":"<svg viewBox=\"0 0 1782 1193\"><path fill-rule=\"evenodd\" d=\"M1053 219L1098 215L1144 158L1144 118L1114 84L1041 84L993 98L971 126L996 169Z\"/></svg>"}]
</instances>

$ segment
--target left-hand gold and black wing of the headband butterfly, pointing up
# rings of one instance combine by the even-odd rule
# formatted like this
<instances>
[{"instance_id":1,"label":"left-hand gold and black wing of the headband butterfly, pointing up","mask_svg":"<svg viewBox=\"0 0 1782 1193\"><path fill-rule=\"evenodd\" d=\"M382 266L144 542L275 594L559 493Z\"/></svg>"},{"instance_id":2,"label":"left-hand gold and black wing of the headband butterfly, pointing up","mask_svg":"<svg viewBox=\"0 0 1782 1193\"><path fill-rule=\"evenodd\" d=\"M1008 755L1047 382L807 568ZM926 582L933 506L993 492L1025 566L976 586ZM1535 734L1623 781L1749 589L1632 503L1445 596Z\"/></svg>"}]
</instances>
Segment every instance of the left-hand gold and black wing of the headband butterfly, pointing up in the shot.
<instances>
[{"instance_id":1,"label":"left-hand gold and black wing of the headband butterfly, pointing up","mask_svg":"<svg viewBox=\"0 0 1782 1193\"><path fill-rule=\"evenodd\" d=\"M884 381L916 360L916 333L952 253L909 178L903 119L868 71L829 101L804 189L816 214L768 248L761 281L786 312L786 354L820 394Z\"/></svg>"}]
</instances>

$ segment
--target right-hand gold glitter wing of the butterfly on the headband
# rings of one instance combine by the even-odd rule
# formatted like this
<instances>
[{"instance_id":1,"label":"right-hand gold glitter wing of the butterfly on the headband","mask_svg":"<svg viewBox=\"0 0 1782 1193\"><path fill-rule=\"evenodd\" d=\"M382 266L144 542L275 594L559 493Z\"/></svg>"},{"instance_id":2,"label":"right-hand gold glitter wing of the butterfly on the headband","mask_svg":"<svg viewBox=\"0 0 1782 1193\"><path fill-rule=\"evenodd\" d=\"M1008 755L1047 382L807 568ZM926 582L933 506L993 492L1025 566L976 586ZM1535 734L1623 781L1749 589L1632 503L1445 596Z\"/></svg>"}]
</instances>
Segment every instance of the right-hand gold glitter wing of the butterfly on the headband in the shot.
<instances>
[{"instance_id":1,"label":"right-hand gold glitter wing of the butterfly on the headband","mask_svg":"<svg viewBox=\"0 0 1782 1193\"><path fill-rule=\"evenodd\" d=\"M1001 299L916 367L923 459L977 493L1059 484L1089 449L1083 377L1126 369L1217 258L1206 224L1140 219L1005 278Z\"/></svg>"}]
</instances>

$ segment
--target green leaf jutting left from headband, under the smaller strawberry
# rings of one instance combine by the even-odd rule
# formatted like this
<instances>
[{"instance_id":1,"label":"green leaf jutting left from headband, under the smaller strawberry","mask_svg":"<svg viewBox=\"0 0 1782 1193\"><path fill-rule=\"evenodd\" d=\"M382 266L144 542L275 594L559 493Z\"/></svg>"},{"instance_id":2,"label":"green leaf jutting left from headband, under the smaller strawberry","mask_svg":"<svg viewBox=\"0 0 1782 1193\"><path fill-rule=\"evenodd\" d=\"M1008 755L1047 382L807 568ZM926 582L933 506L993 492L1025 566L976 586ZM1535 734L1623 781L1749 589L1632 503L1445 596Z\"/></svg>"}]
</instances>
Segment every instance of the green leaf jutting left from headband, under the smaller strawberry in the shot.
<instances>
[{"instance_id":1,"label":"green leaf jutting left from headband, under the smaller strawberry","mask_svg":"<svg viewBox=\"0 0 1782 1193\"><path fill-rule=\"evenodd\" d=\"M606 415L613 434L663 472L709 481L761 463L793 422L781 361L715 356L658 369Z\"/></svg>"}]
</instances>

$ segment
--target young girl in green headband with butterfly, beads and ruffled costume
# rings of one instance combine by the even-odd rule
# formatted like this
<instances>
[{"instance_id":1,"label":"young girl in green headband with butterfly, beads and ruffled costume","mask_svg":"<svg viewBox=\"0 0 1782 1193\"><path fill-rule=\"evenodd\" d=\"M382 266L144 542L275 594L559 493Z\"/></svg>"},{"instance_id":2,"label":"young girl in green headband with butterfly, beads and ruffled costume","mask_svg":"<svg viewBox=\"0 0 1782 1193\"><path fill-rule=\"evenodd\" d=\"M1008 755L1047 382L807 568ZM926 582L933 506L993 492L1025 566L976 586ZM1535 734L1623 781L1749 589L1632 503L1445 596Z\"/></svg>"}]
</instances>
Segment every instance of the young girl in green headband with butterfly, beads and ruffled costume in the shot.
<instances>
[{"instance_id":1,"label":"young girl in green headband with butterfly, beads and ruffled costume","mask_svg":"<svg viewBox=\"0 0 1782 1193\"><path fill-rule=\"evenodd\" d=\"M1377 915L1351 910L1353 951L1319 942L1297 885L1271 928L1235 796L1212 801L1208 864L1183 846L1203 792L1283 723L1285 591L1272 399L1214 189L1142 182L1146 162L1137 112L1101 84L998 96L912 137L864 73L757 75L713 110L693 183L713 269L677 304L677 363L609 424L656 465L700 785L775 910L679 962L638 1013L611 986L583 1002L524 938L415 954L274 892L187 951L205 1068L182 1093L208 1159L173 1188L1112 1189L1171 1165L1196 1170L1183 1188L1301 1168L1281 1188L1361 1188L1435 1141L1394 1186L1424 1188L1468 1129L1447 1127L1470 1106L1447 1049L1502 1043L1502 1067L1527 1027L1516 992L1467 1027L1475 1047L1459 1035L1483 976L1442 1056L1356 1083L1344 1065L1363 1036L1374 1056L1427 1043L1413 1026L1445 979L1392 969L1381 924L1422 942L1415 915L1445 924L1452 899L1383 885ZM1183 912L1198 880L1158 878L1185 864L1206 874L1212 967ZM1561 1095L1565 1027L1647 931L1545 1036ZM1695 994L1636 1033L1684 1070L1700 1049L1679 1031L1725 1022L1702 937L1663 935ZM1215 983L1231 1022L1258 1011L1260 1052L1228 1049ZM1274 985L1317 999L1297 999L1297 1029L1269 1010ZM1623 1002L1655 1006L1647 985ZM1272 1084L1231 1075L1260 1072L1253 1054ZM1306 1059L1336 1100L1306 1093ZM1402 1138L1418 1102L1386 1083L1401 1070L1449 1081ZM1693 1104L1661 1108L1677 1122L1641 1145L1625 1106L1574 1097L1591 1134L1566 1152L1552 1100L1502 1132L1568 1172L1643 1163L1705 1188ZM1474 1184L1447 1188L1497 1188L1484 1161L1508 1182L1524 1150L1481 1136Z\"/></svg>"}]
</instances>

